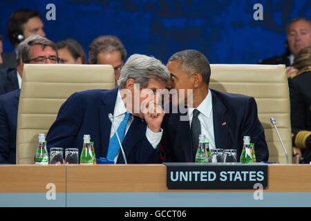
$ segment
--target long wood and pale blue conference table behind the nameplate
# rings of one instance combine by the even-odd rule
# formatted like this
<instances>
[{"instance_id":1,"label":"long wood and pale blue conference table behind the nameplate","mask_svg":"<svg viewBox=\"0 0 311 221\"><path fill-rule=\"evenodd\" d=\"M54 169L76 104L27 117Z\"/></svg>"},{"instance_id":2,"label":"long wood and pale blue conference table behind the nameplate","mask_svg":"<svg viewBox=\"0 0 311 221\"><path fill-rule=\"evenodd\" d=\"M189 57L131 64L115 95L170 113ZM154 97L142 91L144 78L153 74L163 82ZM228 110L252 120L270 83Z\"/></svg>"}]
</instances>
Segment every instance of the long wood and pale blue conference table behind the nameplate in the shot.
<instances>
[{"instance_id":1,"label":"long wood and pale blue conference table behind the nameplate","mask_svg":"<svg viewBox=\"0 0 311 221\"><path fill-rule=\"evenodd\" d=\"M311 206L311 165L269 164L267 177L256 198L257 189L168 189L164 164L0 165L0 206Z\"/></svg>"}]
</instances>

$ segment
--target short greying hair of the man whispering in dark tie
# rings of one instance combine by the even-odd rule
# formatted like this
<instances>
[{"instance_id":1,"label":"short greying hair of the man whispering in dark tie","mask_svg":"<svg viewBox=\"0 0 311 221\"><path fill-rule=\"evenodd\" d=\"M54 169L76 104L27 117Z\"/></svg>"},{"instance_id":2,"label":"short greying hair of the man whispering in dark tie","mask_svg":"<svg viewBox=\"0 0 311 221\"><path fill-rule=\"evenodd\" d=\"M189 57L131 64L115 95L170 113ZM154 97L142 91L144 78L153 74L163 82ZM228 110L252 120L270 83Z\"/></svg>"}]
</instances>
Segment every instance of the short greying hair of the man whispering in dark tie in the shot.
<instances>
[{"instance_id":1,"label":"short greying hair of the man whispering in dark tie","mask_svg":"<svg viewBox=\"0 0 311 221\"><path fill-rule=\"evenodd\" d=\"M178 61L181 70L185 71L188 75L199 73L202 75L203 81L209 85L211 77L211 66L209 61L198 50L182 50L173 54L169 61Z\"/></svg>"}]
</instances>

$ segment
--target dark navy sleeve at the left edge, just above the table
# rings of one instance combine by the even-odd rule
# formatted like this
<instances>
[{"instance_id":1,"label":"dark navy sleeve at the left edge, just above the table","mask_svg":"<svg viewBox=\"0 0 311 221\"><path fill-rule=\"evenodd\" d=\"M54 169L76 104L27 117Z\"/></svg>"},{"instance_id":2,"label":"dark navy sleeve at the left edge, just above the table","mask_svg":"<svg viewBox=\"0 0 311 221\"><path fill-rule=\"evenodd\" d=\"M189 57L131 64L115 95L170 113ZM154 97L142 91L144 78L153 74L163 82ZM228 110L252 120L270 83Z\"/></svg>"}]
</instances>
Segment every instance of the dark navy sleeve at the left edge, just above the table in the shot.
<instances>
[{"instance_id":1,"label":"dark navy sleeve at the left edge, just above the table","mask_svg":"<svg viewBox=\"0 0 311 221\"><path fill-rule=\"evenodd\" d=\"M4 110L3 102L0 99L0 162L8 163L10 155L10 126L8 116Z\"/></svg>"}]
</instances>

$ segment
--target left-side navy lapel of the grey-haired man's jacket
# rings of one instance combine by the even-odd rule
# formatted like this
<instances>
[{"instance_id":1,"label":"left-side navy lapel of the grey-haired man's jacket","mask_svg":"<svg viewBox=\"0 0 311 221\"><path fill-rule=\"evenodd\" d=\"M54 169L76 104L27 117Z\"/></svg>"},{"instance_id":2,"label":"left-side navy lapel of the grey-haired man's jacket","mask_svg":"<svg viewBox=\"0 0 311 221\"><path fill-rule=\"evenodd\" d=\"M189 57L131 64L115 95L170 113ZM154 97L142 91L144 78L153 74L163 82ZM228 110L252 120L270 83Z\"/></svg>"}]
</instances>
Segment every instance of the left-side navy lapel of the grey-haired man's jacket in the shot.
<instances>
[{"instance_id":1,"label":"left-side navy lapel of the grey-haired man's jacket","mask_svg":"<svg viewBox=\"0 0 311 221\"><path fill-rule=\"evenodd\" d=\"M117 88L113 90L107 90L102 96L102 104L100 105L100 135L102 140L102 155L106 157L110 132L111 132L111 122L108 118L108 114L112 113L115 109L115 100L117 99Z\"/></svg>"}]
</instances>

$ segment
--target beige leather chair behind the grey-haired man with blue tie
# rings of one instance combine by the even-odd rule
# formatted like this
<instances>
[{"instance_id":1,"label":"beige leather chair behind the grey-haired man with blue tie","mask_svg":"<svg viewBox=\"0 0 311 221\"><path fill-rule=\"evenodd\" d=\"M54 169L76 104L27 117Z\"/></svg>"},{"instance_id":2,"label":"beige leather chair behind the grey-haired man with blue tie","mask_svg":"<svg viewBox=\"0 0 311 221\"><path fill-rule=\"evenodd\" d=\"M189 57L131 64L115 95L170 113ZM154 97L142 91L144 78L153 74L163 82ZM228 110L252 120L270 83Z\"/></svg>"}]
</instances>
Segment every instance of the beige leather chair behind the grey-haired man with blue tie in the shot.
<instances>
[{"instance_id":1,"label":"beige leather chair behind the grey-haired man with blue tie","mask_svg":"<svg viewBox=\"0 0 311 221\"><path fill-rule=\"evenodd\" d=\"M47 133L73 93L115 86L110 65L25 64L17 117L17 164L33 164L38 134Z\"/></svg>"}]
</instances>

